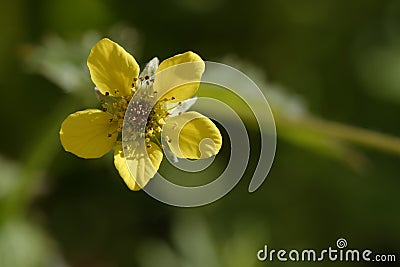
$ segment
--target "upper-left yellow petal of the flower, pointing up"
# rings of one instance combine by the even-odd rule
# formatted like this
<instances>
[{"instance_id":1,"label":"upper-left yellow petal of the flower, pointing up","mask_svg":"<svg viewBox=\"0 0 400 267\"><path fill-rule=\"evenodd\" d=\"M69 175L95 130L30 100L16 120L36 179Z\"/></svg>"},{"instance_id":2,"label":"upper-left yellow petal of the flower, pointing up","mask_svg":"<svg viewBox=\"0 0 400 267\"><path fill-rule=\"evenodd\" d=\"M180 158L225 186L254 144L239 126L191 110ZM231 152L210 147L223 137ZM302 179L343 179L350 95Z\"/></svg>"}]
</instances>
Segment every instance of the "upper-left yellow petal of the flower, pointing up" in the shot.
<instances>
[{"instance_id":1,"label":"upper-left yellow petal of the flower, pointing up","mask_svg":"<svg viewBox=\"0 0 400 267\"><path fill-rule=\"evenodd\" d=\"M139 75L139 65L117 43L107 38L100 40L90 51L87 65L92 81L102 94L107 92L112 96L132 94L132 83Z\"/></svg>"}]
</instances>

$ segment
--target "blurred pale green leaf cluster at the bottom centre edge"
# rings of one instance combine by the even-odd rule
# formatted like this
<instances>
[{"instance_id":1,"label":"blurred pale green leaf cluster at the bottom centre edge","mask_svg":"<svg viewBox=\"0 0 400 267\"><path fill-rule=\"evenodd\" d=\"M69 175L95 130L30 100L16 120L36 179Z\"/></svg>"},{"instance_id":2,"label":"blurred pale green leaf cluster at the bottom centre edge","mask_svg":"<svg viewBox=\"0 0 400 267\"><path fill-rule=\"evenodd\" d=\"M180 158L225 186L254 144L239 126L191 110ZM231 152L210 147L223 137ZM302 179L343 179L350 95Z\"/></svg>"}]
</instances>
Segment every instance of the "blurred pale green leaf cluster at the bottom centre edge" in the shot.
<instances>
[{"instance_id":1,"label":"blurred pale green leaf cluster at the bottom centre edge","mask_svg":"<svg viewBox=\"0 0 400 267\"><path fill-rule=\"evenodd\" d=\"M139 262L142 267L257 266L254 244L263 246L265 225L243 218L227 225L226 230L215 239L204 218L179 216L172 228L172 246L163 241L147 242L137 253Z\"/></svg>"}]
</instances>

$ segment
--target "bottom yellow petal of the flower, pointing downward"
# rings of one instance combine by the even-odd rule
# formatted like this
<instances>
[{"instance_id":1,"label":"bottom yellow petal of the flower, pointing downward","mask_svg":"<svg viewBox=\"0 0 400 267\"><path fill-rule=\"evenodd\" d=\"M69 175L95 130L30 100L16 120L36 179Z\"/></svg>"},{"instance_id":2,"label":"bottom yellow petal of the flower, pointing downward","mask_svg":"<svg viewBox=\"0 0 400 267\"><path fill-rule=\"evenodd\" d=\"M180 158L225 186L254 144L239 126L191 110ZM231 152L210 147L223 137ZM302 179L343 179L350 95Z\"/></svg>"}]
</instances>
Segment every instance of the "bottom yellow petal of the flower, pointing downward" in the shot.
<instances>
[{"instance_id":1,"label":"bottom yellow petal of the flower, pointing downward","mask_svg":"<svg viewBox=\"0 0 400 267\"><path fill-rule=\"evenodd\" d=\"M131 190L140 190L156 174L160 167L163 154L161 149L150 142L151 147L146 151L132 151L129 157L124 156L122 146L118 145L114 151L114 165L119 175Z\"/></svg>"}]
</instances>

